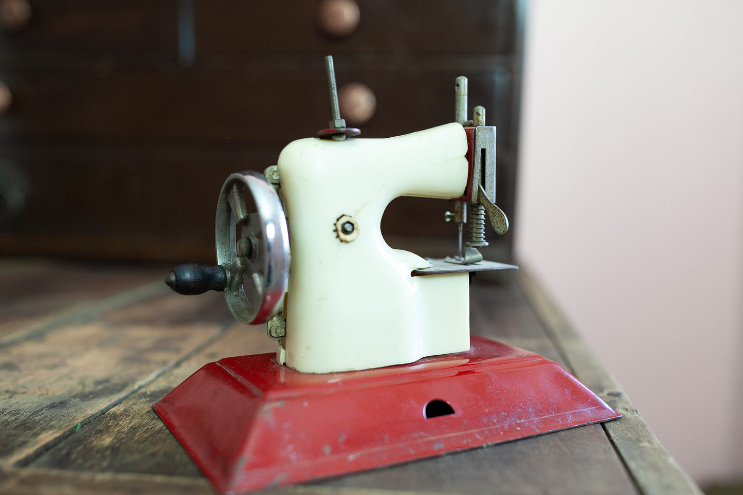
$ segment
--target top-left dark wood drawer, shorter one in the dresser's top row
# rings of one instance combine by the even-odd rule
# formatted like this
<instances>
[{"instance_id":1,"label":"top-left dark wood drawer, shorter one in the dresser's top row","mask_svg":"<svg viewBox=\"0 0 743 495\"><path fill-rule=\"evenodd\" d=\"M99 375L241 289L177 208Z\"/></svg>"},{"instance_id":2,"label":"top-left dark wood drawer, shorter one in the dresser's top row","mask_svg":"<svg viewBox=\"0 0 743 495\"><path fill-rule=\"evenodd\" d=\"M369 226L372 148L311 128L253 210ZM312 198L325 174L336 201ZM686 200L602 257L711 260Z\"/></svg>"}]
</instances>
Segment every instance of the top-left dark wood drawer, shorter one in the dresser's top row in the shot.
<instances>
[{"instance_id":1,"label":"top-left dark wood drawer, shorter one in the dresser's top row","mask_svg":"<svg viewBox=\"0 0 743 495\"><path fill-rule=\"evenodd\" d=\"M1 56L177 53L177 0L30 0L30 6L24 28L0 33Z\"/></svg>"}]
</instances>

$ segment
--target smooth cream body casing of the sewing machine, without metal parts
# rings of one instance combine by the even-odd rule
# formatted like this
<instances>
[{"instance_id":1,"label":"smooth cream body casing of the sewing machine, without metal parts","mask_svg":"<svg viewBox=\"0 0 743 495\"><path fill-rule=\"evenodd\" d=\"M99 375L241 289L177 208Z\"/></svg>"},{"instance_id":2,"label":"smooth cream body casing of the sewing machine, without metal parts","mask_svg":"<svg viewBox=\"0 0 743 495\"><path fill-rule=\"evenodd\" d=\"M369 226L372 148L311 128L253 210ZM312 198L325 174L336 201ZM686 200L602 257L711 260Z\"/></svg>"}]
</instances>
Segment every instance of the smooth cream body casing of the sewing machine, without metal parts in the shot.
<instances>
[{"instance_id":1,"label":"smooth cream body casing of the sewing machine, without metal parts","mask_svg":"<svg viewBox=\"0 0 743 495\"><path fill-rule=\"evenodd\" d=\"M303 139L284 149L288 366L337 372L470 348L467 273L412 276L431 263L390 248L380 232L398 196L460 197L465 152L457 123L389 139ZM349 234L344 220L353 224Z\"/></svg>"}]
</instances>

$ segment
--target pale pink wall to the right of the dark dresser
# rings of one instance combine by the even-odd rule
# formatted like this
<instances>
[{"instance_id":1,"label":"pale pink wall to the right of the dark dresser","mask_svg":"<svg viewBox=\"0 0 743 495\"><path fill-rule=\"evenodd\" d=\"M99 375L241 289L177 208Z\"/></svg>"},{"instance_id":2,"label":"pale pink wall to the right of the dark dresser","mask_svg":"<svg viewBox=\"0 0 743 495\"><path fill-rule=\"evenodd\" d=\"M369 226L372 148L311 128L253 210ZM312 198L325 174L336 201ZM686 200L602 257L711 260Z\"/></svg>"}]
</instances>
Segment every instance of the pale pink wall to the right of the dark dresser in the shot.
<instances>
[{"instance_id":1,"label":"pale pink wall to the right of the dark dresser","mask_svg":"<svg viewBox=\"0 0 743 495\"><path fill-rule=\"evenodd\" d=\"M743 474L743 1L534 0L519 262L698 482Z\"/></svg>"}]
</instances>

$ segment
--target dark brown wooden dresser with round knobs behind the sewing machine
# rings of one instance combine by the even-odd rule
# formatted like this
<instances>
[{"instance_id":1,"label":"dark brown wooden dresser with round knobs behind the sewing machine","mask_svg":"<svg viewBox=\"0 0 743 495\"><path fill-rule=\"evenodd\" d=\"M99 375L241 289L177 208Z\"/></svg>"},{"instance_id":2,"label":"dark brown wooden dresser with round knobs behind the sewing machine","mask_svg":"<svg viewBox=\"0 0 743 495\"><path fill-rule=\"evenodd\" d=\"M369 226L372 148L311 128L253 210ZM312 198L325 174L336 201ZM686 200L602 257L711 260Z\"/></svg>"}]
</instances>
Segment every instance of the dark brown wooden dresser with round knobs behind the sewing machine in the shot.
<instances>
[{"instance_id":1,"label":"dark brown wooden dresser with round knobs behind the sewing machine","mask_svg":"<svg viewBox=\"0 0 743 495\"><path fill-rule=\"evenodd\" d=\"M364 138L451 122L455 77L469 77L470 109L484 106L498 127L498 203L513 219L519 8L1 0L11 101L0 114L0 253L212 262L224 178L276 164L285 144L327 126L326 54ZM376 100L368 121L354 122L350 83ZM450 208L400 198L383 232L454 236ZM507 261L510 237L493 241Z\"/></svg>"}]
</instances>

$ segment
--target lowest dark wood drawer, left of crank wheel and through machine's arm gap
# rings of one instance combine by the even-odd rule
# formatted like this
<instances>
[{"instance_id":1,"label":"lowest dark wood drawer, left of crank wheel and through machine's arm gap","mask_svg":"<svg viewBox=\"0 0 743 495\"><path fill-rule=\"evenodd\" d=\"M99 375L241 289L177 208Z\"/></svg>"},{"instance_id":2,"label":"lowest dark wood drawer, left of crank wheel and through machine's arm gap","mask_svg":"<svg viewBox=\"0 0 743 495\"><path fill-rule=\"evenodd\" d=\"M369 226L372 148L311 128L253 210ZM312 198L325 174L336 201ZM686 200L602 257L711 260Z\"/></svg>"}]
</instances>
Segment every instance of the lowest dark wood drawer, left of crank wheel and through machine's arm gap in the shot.
<instances>
[{"instance_id":1,"label":"lowest dark wood drawer, left of crank wheel and through machine's arm gap","mask_svg":"<svg viewBox=\"0 0 743 495\"><path fill-rule=\"evenodd\" d=\"M27 177L25 207L0 230L0 253L121 259L195 258L212 262L216 203L227 175L262 172L282 146L0 146L0 168L15 164ZM510 168L501 161L501 169ZM501 204L512 213L508 181ZM447 236L451 201L398 198L382 230L392 236ZM494 236L493 233L489 234ZM395 246L401 247L401 246Z\"/></svg>"}]
</instances>

